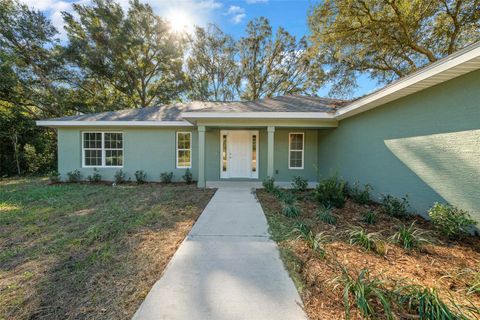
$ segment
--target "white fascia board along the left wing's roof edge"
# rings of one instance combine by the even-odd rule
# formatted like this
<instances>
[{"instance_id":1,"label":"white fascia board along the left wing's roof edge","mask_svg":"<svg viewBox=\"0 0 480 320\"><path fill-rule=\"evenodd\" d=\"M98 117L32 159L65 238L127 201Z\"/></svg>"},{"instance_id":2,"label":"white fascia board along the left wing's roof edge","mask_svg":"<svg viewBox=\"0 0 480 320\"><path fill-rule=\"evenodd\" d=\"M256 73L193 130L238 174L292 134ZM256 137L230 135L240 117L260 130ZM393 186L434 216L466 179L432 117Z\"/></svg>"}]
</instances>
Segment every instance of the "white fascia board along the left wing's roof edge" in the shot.
<instances>
[{"instance_id":1,"label":"white fascia board along the left wing's roof edge","mask_svg":"<svg viewBox=\"0 0 480 320\"><path fill-rule=\"evenodd\" d=\"M55 121L39 120L44 127L191 127L187 121Z\"/></svg>"}]
</instances>

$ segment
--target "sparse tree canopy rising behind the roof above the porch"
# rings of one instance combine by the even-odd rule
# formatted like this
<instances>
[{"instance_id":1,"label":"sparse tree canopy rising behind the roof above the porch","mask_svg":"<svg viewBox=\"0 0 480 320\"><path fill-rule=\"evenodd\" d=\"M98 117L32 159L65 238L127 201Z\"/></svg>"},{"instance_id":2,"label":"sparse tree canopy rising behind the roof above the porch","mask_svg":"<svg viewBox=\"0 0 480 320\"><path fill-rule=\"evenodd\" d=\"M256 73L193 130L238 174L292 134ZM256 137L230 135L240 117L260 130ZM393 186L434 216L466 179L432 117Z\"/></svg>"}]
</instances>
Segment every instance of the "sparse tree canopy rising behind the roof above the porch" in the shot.
<instances>
[{"instance_id":1,"label":"sparse tree canopy rising behind the roof above the porch","mask_svg":"<svg viewBox=\"0 0 480 320\"><path fill-rule=\"evenodd\" d=\"M297 41L285 29L273 36L269 21L260 17L247 25L238 43L243 81L241 98L254 100L282 94L314 93L323 74L314 56L307 55L305 38Z\"/></svg>"}]
</instances>

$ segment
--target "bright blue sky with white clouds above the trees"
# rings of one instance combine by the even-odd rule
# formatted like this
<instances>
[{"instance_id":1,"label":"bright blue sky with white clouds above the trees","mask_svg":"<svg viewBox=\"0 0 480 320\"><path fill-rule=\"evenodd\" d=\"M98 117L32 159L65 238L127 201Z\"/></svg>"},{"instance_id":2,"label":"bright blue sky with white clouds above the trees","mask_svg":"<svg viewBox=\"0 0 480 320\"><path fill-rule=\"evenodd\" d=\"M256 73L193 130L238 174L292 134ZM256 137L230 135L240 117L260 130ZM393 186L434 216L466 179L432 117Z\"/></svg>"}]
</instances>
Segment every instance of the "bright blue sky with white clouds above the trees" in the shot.
<instances>
[{"instance_id":1,"label":"bright blue sky with white clouds above the trees","mask_svg":"<svg viewBox=\"0 0 480 320\"><path fill-rule=\"evenodd\" d=\"M73 3L88 4L91 0L23 0L24 3L41 10L49 17L65 37L62 11L72 11ZM125 9L128 0L116 0ZM300 38L308 35L307 13L318 1L314 0L141 0L148 2L154 11L176 24L179 29L191 30L193 25L205 26L216 23L220 28L238 39L244 34L251 19L264 16L273 29L279 26ZM359 88L353 96L360 96L378 88L375 81L363 75L358 79ZM328 87L318 95L326 96Z\"/></svg>"}]
</instances>

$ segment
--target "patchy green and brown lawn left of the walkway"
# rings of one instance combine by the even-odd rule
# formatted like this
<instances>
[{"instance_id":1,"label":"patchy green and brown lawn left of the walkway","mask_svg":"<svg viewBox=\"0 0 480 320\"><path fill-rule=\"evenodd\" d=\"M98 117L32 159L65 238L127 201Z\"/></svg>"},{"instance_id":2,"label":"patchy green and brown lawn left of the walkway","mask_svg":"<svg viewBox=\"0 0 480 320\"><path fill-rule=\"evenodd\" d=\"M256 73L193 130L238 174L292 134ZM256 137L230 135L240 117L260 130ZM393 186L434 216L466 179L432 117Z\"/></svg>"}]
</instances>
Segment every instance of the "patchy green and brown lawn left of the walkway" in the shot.
<instances>
[{"instance_id":1,"label":"patchy green and brown lawn left of the walkway","mask_svg":"<svg viewBox=\"0 0 480 320\"><path fill-rule=\"evenodd\" d=\"M213 193L0 181L0 319L130 319Z\"/></svg>"}]
</instances>

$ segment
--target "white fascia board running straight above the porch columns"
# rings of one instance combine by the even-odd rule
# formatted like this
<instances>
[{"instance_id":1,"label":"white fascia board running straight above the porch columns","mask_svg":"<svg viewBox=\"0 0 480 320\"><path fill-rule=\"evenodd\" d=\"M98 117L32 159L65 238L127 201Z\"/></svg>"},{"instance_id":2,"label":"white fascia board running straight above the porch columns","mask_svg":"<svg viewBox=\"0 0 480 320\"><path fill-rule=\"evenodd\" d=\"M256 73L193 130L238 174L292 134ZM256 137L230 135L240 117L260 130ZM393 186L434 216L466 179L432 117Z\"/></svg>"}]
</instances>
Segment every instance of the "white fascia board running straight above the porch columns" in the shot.
<instances>
[{"instance_id":1,"label":"white fascia board running straight above the porch columns","mask_svg":"<svg viewBox=\"0 0 480 320\"><path fill-rule=\"evenodd\" d=\"M183 112L184 119L327 119L335 115L327 112Z\"/></svg>"}]
</instances>

